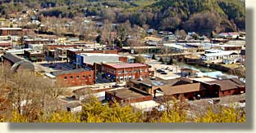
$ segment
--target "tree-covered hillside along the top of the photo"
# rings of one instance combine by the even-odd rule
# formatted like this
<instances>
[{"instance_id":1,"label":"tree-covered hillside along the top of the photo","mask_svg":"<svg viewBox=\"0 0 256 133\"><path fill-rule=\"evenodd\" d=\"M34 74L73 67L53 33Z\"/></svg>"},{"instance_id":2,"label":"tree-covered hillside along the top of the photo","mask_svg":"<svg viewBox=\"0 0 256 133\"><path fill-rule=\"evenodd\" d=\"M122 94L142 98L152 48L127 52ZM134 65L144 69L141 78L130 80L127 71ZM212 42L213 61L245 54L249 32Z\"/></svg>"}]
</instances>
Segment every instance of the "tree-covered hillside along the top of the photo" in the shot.
<instances>
[{"instance_id":1,"label":"tree-covered hillside along the top of the photo","mask_svg":"<svg viewBox=\"0 0 256 133\"><path fill-rule=\"evenodd\" d=\"M11 11L44 8L40 11L43 16L102 16L113 23L129 20L132 25L173 32L245 30L242 0L6 0L0 7L2 16Z\"/></svg>"}]
</instances>

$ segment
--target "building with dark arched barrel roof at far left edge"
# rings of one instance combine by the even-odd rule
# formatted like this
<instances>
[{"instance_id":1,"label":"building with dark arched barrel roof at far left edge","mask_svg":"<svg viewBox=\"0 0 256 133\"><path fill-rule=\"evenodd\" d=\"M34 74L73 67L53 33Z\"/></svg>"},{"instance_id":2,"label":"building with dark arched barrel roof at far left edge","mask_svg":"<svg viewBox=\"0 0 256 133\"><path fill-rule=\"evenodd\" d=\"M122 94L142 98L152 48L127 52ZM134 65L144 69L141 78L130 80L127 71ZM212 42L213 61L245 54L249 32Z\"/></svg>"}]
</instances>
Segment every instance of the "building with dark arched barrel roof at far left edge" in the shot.
<instances>
[{"instance_id":1,"label":"building with dark arched barrel roof at far left edge","mask_svg":"<svg viewBox=\"0 0 256 133\"><path fill-rule=\"evenodd\" d=\"M11 71L28 70L34 71L34 64L28 60L21 59L18 55L7 53L2 55L3 64L11 67Z\"/></svg>"}]
</instances>

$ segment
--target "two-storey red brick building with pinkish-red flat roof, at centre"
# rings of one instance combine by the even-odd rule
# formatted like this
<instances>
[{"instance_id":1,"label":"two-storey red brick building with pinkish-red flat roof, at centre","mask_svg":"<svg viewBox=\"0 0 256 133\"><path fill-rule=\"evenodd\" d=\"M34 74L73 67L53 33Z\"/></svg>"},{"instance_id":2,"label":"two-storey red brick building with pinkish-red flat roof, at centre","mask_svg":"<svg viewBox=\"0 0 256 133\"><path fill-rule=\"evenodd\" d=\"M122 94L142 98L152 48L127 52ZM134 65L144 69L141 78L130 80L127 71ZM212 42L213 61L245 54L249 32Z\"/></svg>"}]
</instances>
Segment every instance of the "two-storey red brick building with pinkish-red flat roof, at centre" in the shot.
<instances>
[{"instance_id":1,"label":"two-storey red brick building with pinkish-red flat roof, at centre","mask_svg":"<svg viewBox=\"0 0 256 133\"><path fill-rule=\"evenodd\" d=\"M139 63L102 64L102 73L106 78L111 78L116 82L149 78L149 65Z\"/></svg>"}]
</instances>

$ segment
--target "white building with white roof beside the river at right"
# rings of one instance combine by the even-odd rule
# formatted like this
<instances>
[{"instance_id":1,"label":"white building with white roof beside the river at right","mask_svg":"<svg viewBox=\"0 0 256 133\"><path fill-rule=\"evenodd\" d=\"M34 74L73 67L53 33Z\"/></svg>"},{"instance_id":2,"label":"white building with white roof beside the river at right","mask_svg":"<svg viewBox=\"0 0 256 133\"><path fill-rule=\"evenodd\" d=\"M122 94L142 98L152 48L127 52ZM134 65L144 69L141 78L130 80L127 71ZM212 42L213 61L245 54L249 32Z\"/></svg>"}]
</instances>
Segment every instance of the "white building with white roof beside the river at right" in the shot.
<instances>
[{"instance_id":1,"label":"white building with white roof beside the river at right","mask_svg":"<svg viewBox=\"0 0 256 133\"><path fill-rule=\"evenodd\" d=\"M240 55L231 51L220 51L201 55L201 60L209 63L222 63L223 59L239 58Z\"/></svg>"}]
</instances>

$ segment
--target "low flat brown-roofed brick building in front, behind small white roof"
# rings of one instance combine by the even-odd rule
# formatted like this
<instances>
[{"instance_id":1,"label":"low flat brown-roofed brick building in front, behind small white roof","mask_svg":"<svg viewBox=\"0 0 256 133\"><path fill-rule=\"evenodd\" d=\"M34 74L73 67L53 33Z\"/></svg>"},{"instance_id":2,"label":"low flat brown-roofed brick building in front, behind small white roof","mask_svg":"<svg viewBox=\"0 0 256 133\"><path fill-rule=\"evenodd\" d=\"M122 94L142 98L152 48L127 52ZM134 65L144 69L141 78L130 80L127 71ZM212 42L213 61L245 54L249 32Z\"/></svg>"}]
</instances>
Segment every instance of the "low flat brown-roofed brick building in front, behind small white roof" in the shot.
<instances>
[{"instance_id":1,"label":"low flat brown-roofed brick building in front, behind small white roof","mask_svg":"<svg viewBox=\"0 0 256 133\"><path fill-rule=\"evenodd\" d=\"M106 91L105 100L108 100L110 103L117 101L121 104L131 104L153 100L153 96L144 91L140 91L135 87L130 87L128 89L125 88L114 91Z\"/></svg>"}]
</instances>

